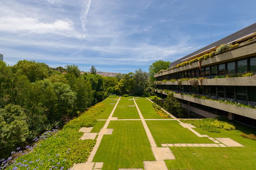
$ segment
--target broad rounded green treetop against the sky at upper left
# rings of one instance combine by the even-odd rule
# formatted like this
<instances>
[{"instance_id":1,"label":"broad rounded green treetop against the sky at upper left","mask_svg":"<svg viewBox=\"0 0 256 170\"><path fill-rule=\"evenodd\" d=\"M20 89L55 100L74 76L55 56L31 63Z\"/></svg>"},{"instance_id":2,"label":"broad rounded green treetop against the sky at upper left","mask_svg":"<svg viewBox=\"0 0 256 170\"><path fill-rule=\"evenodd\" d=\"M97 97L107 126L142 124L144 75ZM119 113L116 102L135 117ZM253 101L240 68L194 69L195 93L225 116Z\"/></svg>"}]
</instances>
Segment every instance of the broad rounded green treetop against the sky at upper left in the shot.
<instances>
[{"instance_id":1,"label":"broad rounded green treetop against the sky at upper left","mask_svg":"<svg viewBox=\"0 0 256 170\"><path fill-rule=\"evenodd\" d=\"M26 75L30 82L42 80L52 74L51 68L45 63L20 60L13 66L14 73Z\"/></svg>"}]
</instances>

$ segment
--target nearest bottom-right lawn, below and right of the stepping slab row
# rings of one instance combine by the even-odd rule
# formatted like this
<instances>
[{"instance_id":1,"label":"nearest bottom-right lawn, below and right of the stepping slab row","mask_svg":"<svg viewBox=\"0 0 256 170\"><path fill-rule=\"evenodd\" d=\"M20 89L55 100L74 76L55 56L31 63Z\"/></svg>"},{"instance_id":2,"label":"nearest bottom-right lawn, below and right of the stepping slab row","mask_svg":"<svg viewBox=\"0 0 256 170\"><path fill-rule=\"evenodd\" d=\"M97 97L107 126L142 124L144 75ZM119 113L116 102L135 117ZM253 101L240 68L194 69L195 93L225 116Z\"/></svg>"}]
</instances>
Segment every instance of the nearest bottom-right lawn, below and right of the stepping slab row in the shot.
<instances>
[{"instance_id":1,"label":"nearest bottom-right lawn, below and right of the stepping slab row","mask_svg":"<svg viewBox=\"0 0 256 170\"><path fill-rule=\"evenodd\" d=\"M175 160L166 160L168 169L255 169L256 142L240 136L255 133L254 128L236 123L238 130L219 129L221 133L195 128L210 137L229 137L245 147L170 147Z\"/></svg>"}]
</instances>

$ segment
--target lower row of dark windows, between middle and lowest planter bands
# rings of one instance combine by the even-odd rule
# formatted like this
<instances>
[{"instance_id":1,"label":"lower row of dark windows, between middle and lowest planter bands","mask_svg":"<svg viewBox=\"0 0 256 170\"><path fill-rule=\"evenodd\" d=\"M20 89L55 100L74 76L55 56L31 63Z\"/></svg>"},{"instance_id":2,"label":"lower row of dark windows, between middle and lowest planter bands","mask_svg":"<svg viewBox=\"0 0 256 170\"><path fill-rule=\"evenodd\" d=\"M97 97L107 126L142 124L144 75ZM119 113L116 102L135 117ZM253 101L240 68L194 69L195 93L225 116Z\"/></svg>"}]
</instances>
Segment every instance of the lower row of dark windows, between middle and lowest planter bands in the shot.
<instances>
[{"instance_id":1,"label":"lower row of dark windows, between middle and lowest planter bands","mask_svg":"<svg viewBox=\"0 0 256 170\"><path fill-rule=\"evenodd\" d=\"M157 85L157 89L167 89L178 93L198 94L211 98L230 98L233 101L256 102L256 86L198 86Z\"/></svg>"}]
</instances>

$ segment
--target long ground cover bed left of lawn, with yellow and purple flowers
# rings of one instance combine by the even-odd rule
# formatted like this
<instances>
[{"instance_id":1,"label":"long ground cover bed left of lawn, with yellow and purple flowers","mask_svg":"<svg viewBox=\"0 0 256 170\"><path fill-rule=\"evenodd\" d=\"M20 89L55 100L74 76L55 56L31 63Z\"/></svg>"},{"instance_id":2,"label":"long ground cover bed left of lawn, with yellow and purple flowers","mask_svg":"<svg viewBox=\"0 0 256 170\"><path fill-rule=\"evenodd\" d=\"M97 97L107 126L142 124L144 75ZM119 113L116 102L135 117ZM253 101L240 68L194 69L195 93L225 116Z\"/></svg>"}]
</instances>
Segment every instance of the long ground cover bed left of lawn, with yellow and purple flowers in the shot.
<instances>
[{"instance_id":1,"label":"long ground cover bed left of lawn, with yellow and purple flowers","mask_svg":"<svg viewBox=\"0 0 256 170\"><path fill-rule=\"evenodd\" d=\"M97 122L95 116L102 113L105 107L104 103L98 103L79 117L69 121L62 130L48 139L46 139L46 135L43 135L46 140L34 145L34 148L26 147L27 150L24 152L28 152L28 154L23 152L24 155L16 158L7 169L68 169L74 163L85 162L96 140L80 140L83 132L78 131L81 127L95 125ZM36 138L35 141L37 140L40 141ZM17 149L19 151L19 148ZM22 154L22 152L16 154Z\"/></svg>"}]
</instances>

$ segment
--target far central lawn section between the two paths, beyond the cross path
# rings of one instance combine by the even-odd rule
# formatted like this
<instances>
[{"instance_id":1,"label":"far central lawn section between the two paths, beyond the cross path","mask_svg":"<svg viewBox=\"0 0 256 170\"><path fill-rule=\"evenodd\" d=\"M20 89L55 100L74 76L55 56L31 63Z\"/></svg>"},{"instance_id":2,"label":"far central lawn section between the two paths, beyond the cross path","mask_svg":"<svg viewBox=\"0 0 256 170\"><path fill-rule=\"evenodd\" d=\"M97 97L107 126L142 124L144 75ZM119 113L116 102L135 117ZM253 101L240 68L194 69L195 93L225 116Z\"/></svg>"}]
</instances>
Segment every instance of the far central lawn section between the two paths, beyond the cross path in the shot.
<instances>
[{"instance_id":1,"label":"far central lawn section between the two paths, beyond the cross path","mask_svg":"<svg viewBox=\"0 0 256 170\"><path fill-rule=\"evenodd\" d=\"M114 111L113 117L118 117L118 119L139 119L139 113L133 100L128 100L129 98L121 97L116 110ZM134 107L129 107L133 105Z\"/></svg>"}]
</instances>

